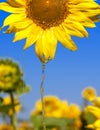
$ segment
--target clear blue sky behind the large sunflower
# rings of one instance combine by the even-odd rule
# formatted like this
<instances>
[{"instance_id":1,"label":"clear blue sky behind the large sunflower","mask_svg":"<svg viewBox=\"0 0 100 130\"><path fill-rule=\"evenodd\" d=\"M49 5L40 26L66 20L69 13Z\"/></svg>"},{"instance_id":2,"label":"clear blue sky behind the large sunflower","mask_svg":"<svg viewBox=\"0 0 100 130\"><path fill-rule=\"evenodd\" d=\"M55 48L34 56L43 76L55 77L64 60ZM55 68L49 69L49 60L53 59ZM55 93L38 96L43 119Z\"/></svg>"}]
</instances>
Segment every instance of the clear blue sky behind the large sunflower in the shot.
<instances>
[{"instance_id":1,"label":"clear blue sky behind the large sunflower","mask_svg":"<svg viewBox=\"0 0 100 130\"><path fill-rule=\"evenodd\" d=\"M0 11L0 26L7 15ZM78 104L82 103L81 91L87 86L93 86L100 95L100 23L96 25L96 28L87 29L88 38L73 37L78 47L76 52L58 43L55 59L46 66L45 95L56 95ZM34 46L23 51L25 40L12 43L13 37L14 34L0 31L0 58L9 57L17 61L24 70L24 80L32 89L21 97L26 112L21 116L27 118L40 98L41 62L34 52Z\"/></svg>"}]
</instances>

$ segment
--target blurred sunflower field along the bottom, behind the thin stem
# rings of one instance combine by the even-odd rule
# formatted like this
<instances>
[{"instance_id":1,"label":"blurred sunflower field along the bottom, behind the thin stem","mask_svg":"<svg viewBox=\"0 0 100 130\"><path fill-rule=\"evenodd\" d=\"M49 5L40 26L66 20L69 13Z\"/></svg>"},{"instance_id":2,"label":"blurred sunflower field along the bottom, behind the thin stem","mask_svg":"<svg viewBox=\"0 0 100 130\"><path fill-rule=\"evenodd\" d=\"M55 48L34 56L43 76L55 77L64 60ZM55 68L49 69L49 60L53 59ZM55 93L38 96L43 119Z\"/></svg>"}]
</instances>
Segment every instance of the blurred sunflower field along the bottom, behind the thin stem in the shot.
<instances>
[{"instance_id":1,"label":"blurred sunflower field along the bottom, behind the thin stem","mask_svg":"<svg viewBox=\"0 0 100 130\"><path fill-rule=\"evenodd\" d=\"M6 71L5 71L6 70ZM39 99L30 112L29 120L18 119L24 107L20 96L30 92L22 79L23 72L11 59L0 59L0 130L43 130L42 103ZM6 96L5 96L6 95ZM81 92L83 106L61 100L57 96L44 96L45 125L47 130L99 130L100 97L88 86Z\"/></svg>"}]
</instances>

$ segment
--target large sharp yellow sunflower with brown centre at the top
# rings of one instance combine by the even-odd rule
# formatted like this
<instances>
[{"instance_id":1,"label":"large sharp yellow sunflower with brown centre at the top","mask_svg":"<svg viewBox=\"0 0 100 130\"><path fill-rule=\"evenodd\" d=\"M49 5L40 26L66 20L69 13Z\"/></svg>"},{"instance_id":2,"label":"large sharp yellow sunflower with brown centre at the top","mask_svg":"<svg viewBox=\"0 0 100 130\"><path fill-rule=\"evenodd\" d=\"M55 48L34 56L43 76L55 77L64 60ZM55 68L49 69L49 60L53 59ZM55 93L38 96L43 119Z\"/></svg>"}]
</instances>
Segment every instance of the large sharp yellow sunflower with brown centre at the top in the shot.
<instances>
[{"instance_id":1,"label":"large sharp yellow sunflower with brown centre at the top","mask_svg":"<svg viewBox=\"0 0 100 130\"><path fill-rule=\"evenodd\" d=\"M94 0L7 0L0 9L11 14L4 20L6 33L15 33L14 42L26 38L24 49L35 44L42 62L53 59L58 41L72 51L71 36L87 37L86 27L95 27L100 7Z\"/></svg>"}]
</instances>

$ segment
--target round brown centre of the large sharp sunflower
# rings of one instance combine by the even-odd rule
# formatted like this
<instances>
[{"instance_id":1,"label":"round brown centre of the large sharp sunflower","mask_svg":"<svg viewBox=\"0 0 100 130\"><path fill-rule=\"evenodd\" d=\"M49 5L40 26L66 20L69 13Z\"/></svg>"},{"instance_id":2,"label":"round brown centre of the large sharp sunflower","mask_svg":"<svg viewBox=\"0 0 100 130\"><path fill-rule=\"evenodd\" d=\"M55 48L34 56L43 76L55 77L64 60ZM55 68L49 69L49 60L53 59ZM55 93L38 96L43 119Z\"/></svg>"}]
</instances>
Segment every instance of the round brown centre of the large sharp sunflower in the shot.
<instances>
[{"instance_id":1,"label":"round brown centre of the large sharp sunflower","mask_svg":"<svg viewBox=\"0 0 100 130\"><path fill-rule=\"evenodd\" d=\"M27 15L43 29L58 26L68 15L66 3L66 0L31 0Z\"/></svg>"}]
</instances>

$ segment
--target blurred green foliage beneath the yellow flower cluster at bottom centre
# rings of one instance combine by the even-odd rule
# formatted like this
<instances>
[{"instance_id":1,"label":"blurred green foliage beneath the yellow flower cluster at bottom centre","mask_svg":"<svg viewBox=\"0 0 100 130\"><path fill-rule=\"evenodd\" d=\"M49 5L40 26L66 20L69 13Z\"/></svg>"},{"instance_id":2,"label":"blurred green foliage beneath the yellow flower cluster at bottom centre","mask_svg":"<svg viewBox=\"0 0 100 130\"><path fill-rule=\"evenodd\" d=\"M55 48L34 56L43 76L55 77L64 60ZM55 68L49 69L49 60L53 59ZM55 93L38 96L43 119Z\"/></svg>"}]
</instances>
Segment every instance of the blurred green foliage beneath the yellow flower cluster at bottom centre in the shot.
<instances>
[{"instance_id":1,"label":"blurred green foliage beneath the yellow flower cluster at bottom centre","mask_svg":"<svg viewBox=\"0 0 100 130\"><path fill-rule=\"evenodd\" d=\"M42 130L43 124L41 115L31 116L30 120L36 129ZM67 126L73 124L73 122L74 119L45 117L45 123L48 130L51 128L60 128L61 130L66 130Z\"/></svg>"}]
</instances>

